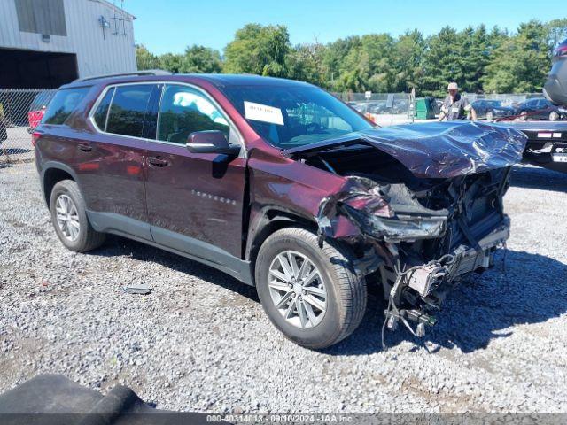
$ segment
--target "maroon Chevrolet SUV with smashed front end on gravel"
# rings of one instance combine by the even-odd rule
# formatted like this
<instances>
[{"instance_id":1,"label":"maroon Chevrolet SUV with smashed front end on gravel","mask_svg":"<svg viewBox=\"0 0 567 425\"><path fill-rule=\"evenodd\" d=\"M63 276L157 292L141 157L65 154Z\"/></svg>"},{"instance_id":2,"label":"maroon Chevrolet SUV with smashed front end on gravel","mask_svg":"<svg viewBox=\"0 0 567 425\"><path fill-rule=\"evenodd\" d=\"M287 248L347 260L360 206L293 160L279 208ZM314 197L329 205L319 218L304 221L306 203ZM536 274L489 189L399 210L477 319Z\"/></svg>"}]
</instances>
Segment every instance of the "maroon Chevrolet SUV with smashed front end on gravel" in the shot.
<instances>
[{"instance_id":1,"label":"maroon Chevrolet SUV with smashed front end on gravel","mask_svg":"<svg viewBox=\"0 0 567 425\"><path fill-rule=\"evenodd\" d=\"M525 144L487 124L376 128L297 81L162 72L62 87L34 139L67 248L112 233L216 267L311 348L353 332L370 285L384 326L422 336L508 238Z\"/></svg>"}]
</instances>

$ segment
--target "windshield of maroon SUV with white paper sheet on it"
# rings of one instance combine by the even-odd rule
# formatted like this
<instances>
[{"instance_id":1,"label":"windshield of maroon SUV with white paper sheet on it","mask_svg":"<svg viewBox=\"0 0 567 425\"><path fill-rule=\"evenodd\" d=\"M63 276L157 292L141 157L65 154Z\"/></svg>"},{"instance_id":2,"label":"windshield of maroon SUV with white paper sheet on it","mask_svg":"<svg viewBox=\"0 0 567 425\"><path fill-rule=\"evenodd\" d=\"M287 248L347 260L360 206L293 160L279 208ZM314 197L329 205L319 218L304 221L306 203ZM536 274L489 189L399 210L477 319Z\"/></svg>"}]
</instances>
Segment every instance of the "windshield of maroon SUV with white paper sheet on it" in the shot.
<instances>
[{"instance_id":1,"label":"windshield of maroon SUV with white paper sheet on it","mask_svg":"<svg viewBox=\"0 0 567 425\"><path fill-rule=\"evenodd\" d=\"M258 135L282 149L374 127L312 86L228 86L222 91Z\"/></svg>"}]
</instances>

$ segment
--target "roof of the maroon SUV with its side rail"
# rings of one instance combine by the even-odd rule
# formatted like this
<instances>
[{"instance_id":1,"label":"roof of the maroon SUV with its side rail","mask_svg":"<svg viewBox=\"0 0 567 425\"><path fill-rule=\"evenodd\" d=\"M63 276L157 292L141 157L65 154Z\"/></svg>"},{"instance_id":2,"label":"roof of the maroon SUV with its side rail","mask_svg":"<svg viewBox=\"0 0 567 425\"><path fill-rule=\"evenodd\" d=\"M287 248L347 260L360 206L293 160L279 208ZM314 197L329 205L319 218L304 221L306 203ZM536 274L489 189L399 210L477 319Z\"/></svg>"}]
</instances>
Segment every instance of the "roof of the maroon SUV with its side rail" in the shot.
<instances>
[{"instance_id":1,"label":"roof of the maroon SUV with its side rail","mask_svg":"<svg viewBox=\"0 0 567 425\"><path fill-rule=\"evenodd\" d=\"M286 80L283 78L262 77L252 74L230 73L172 73L172 74L144 74L144 75L104 75L87 80L73 81L62 88L84 86L109 82L136 82L136 81L207 81L214 86L310 86L307 82Z\"/></svg>"}]
</instances>

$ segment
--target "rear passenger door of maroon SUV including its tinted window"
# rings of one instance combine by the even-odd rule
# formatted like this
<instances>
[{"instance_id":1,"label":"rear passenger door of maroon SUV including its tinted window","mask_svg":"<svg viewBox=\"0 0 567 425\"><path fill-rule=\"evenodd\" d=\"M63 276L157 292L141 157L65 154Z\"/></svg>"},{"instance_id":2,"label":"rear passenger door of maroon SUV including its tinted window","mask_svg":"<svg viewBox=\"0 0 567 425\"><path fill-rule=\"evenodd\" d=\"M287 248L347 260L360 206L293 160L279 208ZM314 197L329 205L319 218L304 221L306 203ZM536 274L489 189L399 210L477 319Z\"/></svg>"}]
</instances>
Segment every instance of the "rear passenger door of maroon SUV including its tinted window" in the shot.
<instances>
[{"instance_id":1,"label":"rear passenger door of maroon SUV including its tinted window","mask_svg":"<svg viewBox=\"0 0 567 425\"><path fill-rule=\"evenodd\" d=\"M111 86L89 119L96 134L75 158L89 219L98 229L151 240L145 203L144 124L157 83Z\"/></svg>"}]
</instances>

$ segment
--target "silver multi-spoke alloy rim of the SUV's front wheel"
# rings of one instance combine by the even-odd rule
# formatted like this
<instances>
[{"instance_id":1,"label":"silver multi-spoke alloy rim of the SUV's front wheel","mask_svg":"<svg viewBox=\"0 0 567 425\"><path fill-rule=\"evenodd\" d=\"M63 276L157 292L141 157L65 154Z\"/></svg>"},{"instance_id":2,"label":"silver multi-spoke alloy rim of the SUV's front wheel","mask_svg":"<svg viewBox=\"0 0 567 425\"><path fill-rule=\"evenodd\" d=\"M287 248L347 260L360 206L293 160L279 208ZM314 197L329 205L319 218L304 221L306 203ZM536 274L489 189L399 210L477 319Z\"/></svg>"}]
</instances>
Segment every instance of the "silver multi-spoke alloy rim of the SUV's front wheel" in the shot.
<instances>
[{"instance_id":1,"label":"silver multi-spoke alloy rim of the SUV's front wheel","mask_svg":"<svg viewBox=\"0 0 567 425\"><path fill-rule=\"evenodd\" d=\"M322 274L311 259L297 251L283 251L269 267L269 293L285 321L296 328L314 328L327 310Z\"/></svg>"}]
</instances>

